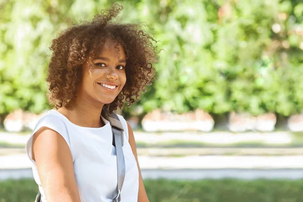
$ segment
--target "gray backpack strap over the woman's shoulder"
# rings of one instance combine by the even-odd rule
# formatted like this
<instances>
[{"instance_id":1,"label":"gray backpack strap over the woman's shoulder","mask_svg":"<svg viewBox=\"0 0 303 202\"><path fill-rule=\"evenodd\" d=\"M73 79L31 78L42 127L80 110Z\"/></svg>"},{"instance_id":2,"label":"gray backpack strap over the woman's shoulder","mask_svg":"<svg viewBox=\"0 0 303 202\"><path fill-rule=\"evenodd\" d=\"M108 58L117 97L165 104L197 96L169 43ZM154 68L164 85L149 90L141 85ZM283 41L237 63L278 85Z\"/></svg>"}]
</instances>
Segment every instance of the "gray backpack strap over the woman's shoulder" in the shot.
<instances>
[{"instance_id":1,"label":"gray backpack strap over the woman's shoulder","mask_svg":"<svg viewBox=\"0 0 303 202\"><path fill-rule=\"evenodd\" d=\"M113 112L109 113L107 110L102 110L102 116L108 120L112 126L113 138L115 139L116 153L117 153L117 173L118 173L118 193L112 202L120 202L121 189L125 178L125 160L122 146L124 144L124 129L119 117Z\"/></svg>"}]
</instances>

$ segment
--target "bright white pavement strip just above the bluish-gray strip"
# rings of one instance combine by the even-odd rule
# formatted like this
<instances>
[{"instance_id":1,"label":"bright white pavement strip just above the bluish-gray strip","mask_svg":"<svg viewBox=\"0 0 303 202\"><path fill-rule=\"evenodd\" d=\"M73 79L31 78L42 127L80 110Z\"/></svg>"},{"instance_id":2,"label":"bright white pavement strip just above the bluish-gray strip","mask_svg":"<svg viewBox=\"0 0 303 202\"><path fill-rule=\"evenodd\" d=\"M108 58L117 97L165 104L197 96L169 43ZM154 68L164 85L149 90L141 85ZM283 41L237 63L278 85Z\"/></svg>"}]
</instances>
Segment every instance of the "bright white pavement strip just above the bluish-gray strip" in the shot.
<instances>
[{"instance_id":1,"label":"bright white pavement strip just above the bluish-gray strip","mask_svg":"<svg viewBox=\"0 0 303 202\"><path fill-rule=\"evenodd\" d=\"M138 156L142 169L303 169L303 156ZM30 168L26 154L0 156L0 169Z\"/></svg>"}]
</instances>

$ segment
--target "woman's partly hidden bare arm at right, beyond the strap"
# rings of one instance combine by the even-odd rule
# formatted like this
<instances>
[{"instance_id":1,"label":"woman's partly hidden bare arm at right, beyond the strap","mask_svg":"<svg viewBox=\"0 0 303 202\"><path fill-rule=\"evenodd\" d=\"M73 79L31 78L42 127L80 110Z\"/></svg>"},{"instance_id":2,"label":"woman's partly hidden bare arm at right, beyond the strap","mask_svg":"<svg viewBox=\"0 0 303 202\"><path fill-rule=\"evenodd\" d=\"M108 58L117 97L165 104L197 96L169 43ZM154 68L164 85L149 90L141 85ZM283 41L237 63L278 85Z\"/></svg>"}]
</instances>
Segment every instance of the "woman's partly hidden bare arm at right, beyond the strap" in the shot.
<instances>
[{"instance_id":1,"label":"woman's partly hidden bare arm at right, beyond the strap","mask_svg":"<svg viewBox=\"0 0 303 202\"><path fill-rule=\"evenodd\" d=\"M135 159L137 161L137 166L138 166L138 170L139 170L138 202L149 202L146 191L145 191L145 188L144 188L140 166L139 166L139 163L138 163L137 149L136 149L136 142L135 142L135 138L134 138L134 133L133 133L133 131L132 131L128 122L127 122L127 127L128 127L128 141L129 141L129 144L131 146L131 150L132 150L132 152L135 156Z\"/></svg>"}]
</instances>

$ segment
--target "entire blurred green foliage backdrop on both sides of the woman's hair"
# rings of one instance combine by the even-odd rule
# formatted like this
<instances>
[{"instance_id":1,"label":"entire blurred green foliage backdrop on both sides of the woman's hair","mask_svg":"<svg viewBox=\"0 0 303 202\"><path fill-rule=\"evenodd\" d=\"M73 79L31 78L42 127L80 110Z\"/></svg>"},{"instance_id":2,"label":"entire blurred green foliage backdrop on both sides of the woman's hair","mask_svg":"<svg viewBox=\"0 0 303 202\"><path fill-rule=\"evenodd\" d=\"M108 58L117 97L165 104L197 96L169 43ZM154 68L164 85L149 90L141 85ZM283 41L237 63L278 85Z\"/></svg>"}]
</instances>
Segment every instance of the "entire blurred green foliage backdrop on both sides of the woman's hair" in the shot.
<instances>
[{"instance_id":1,"label":"entire blurred green foliage backdrop on both sides of the woman's hair","mask_svg":"<svg viewBox=\"0 0 303 202\"><path fill-rule=\"evenodd\" d=\"M0 114L41 112L48 47L71 22L116 1L0 2ZM160 53L157 80L125 113L156 108L289 116L303 109L303 3L299 0L130 0L123 22L144 22ZM149 25L149 26L145 26Z\"/></svg>"}]
</instances>

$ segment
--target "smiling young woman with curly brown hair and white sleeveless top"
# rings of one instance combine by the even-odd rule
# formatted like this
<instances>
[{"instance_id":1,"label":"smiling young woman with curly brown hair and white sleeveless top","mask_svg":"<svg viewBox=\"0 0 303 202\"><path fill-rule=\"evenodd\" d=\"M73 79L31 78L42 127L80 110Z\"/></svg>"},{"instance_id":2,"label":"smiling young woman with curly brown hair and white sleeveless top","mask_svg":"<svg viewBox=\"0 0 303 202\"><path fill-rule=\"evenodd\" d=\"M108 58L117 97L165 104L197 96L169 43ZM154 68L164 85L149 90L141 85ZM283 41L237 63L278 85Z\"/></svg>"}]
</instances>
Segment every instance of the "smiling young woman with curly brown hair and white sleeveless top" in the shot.
<instances>
[{"instance_id":1,"label":"smiling young woman with curly brown hair and white sleeveless top","mask_svg":"<svg viewBox=\"0 0 303 202\"><path fill-rule=\"evenodd\" d=\"M100 113L134 103L152 83L157 59L155 40L138 25L111 23L121 9L113 6L53 40L46 81L55 109L38 121L26 145L43 202L108 202L117 194L111 126ZM119 119L126 170L121 201L149 201L133 131Z\"/></svg>"}]
</instances>

